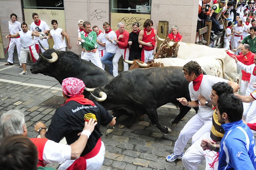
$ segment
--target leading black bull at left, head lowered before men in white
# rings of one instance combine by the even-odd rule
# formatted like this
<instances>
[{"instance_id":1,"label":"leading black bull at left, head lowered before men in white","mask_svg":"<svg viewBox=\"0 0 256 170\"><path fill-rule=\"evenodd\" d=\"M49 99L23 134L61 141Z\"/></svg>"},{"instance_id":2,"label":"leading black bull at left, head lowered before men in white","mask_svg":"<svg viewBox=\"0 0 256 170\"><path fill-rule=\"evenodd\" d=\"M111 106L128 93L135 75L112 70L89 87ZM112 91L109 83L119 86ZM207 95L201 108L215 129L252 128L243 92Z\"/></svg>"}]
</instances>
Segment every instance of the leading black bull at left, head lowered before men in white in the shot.
<instances>
[{"instance_id":1,"label":"leading black bull at left, head lowered before men in white","mask_svg":"<svg viewBox=\"0 0 256 170\"><path fill-rule=\"evenodd\" d=\"M52 59L51 54L57 53L58 60L49 63L46 59ZM88 88L99 87L110 82L114 76L111 76L106 71L96 67L89 61L82 60L78 55L70 51L56 51L54 49L46 50L43 57L39 59L30 67L32 74L44 74L54 77L62 83L65 78L76 77L82 81ZM46 58L46 59L45 59ZM88 98L89 92L84 91L84 96Z\"/></svg>"}]
</instances>

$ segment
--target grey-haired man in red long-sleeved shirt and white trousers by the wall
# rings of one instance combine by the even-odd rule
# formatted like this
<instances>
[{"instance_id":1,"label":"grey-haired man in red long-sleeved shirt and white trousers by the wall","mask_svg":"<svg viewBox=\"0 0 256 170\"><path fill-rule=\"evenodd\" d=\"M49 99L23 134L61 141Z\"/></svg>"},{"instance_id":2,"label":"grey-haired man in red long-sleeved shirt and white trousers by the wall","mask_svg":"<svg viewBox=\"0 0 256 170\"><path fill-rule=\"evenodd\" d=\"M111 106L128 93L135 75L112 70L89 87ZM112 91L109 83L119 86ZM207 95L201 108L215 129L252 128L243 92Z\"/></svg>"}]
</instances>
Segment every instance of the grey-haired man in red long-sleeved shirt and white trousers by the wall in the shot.
<instances>
[{"instance_id":1,"label":"grey-haired man in red long-sleeved shirt and white trousers by the wall","mask_svg":"<svg viewBox=\"0 0 256 170\"><path fill-rule=\"evenodd\" d=\"M118 75L118 61L120 57L123 55L125 60L129 60L129 46L128 46L128 39L129 39L129 33L125 31L124 29L124 23L119 22L117 25L116 30L116 37L113 38L114 41L117 43L116 47L116 54L113 58L113 75L116 77ZM124 62L124 71L128 70L128 63Z\"/></svg>"}]
</instances>

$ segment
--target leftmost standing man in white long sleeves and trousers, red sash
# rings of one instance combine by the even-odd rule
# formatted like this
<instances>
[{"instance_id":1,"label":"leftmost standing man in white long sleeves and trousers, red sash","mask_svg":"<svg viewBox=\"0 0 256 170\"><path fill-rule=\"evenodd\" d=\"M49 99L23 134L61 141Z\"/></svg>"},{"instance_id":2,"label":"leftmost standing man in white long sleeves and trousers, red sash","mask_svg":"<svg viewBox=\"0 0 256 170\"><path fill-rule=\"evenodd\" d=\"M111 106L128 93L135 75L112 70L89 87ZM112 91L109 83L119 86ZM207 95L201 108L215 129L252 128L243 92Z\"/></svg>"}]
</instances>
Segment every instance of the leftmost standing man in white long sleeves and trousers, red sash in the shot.
<instances>
[{"instance_id":1,"label":"leftmost standing man in white long sleeves and trousers, red sash","mask_svg":"<svg viewBox=\"0 0 256 170\"><path fill-rule=\"evenodd\" d=\"M17 15L16 14L11 14L11 21L9 21L8 25L9 25L9 35L14 35L16 34L16 32L21 31L21 24L19 21L16 21L17 19ZM5 66L9 66L9 65L13 65L13 53L14 53L14 47L16 46L17 48L17 53L18 53L18 59L20 61L20 48L21 48L21 43L20 43L20 37L16 37L15 39L10 39L9 41L9 45L7 47L6 51L8 50L8 59L7 59L7 63L5 64ZM20 63L20 67L21 67L21 63Z\"/></svg>"}]
</instances>

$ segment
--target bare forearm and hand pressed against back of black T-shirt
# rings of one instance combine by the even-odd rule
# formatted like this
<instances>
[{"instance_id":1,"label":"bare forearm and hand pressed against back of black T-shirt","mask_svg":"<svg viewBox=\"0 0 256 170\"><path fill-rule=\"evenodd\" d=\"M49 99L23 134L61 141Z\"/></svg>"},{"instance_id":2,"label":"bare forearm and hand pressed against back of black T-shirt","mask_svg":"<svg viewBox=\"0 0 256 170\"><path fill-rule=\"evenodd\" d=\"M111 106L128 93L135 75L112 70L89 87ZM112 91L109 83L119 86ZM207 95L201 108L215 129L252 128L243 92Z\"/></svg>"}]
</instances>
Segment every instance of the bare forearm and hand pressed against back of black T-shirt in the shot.
<instances>
[{"instance_id":1,"label":"bare forearm and hand pressed against back of black T-shirt","mask_svg":"<svg viewBox=\"0 0 256 170\"><path fill-rule=\"evenodd\" d=\"M84 122L84 130L90 131L91 133L94 130L95 125L97 122L95 122L95 119L90 119L89 122ZM88 133L88 132L86 132ZM90 133L89 133L90 134ZM78 159L81 155L81 153L84 151L84 148L86 146L88 136L81 133L80 137L76 140L76 142L72 143L71 146L71 159Z\"/></svg>"}]
</instances>

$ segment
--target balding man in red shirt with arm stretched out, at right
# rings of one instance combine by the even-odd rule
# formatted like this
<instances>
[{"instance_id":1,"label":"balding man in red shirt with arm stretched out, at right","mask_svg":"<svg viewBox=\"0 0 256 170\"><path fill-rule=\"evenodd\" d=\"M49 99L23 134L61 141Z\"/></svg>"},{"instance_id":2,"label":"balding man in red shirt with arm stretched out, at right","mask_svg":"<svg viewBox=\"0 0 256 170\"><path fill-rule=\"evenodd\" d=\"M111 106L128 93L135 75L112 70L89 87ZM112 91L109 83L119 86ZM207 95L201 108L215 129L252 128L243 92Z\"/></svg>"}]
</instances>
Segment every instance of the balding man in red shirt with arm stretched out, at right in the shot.
<instances>
[{"instance_id":1,"label":"balding man in red shirt with arm stretched out, at right","mask_svg":"<svg viewBox=\"0 0 256 170\"><path fill-rule=\"evenodd\" d=\"M226 50L226 53L230 56L230 57L236 57L238 61L244 63L245 65L249 66L251 64L253 64L253 60L254 60L254 56L255 54L252 53L250 51L250 46L248 44L244 44L241 46L241 52L242 54L240 55L235 55L232 53L229 53L228 50ZM248 82L250 80L250 73L246 73L244 70L242 70L242 81L241 81L241 85L240 85L240 95L244 96L245 95L245 91L248 85Z\"/></svg>"}]
</instances>

